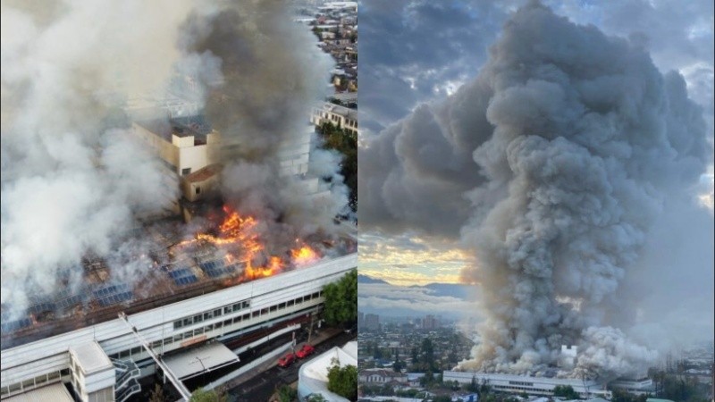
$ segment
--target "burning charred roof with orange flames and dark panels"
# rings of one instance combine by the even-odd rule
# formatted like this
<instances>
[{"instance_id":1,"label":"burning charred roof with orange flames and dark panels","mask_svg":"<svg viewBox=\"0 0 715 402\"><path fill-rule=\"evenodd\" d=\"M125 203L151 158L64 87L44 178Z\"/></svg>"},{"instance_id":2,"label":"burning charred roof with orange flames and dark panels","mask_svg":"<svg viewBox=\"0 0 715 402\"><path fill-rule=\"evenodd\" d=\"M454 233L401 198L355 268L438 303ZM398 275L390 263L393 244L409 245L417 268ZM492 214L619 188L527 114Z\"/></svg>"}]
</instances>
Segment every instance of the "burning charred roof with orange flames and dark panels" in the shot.
<instances>
[{"instance_id":1,"label":"burning charred roof with orange flames and dark panels","mask_svg":"<svg viewBox=\"0 0 715 402\"><path fill-rule=\"evenodd\" d=\"M144 271L136 278L122 281L121 275L113 276L105 260L85 258L75 267L82 273L80 285L65 286L51 296L32 295L24 314L10 314L2 306L2 349L112 320L122 311L135 314L299 267L295 250L283 255L258 252L249 260L222 255L220 242L200 239L220 238L208 232L186 239L182 225L179 220L165 219L138 229L156 247L146 255L131 257L132 269ZM356 249L355 240L349 238L306 239L301 244L318 251L311 264ZM255 243L248 246L255 247Z\"/></svg>"}]
</instances>

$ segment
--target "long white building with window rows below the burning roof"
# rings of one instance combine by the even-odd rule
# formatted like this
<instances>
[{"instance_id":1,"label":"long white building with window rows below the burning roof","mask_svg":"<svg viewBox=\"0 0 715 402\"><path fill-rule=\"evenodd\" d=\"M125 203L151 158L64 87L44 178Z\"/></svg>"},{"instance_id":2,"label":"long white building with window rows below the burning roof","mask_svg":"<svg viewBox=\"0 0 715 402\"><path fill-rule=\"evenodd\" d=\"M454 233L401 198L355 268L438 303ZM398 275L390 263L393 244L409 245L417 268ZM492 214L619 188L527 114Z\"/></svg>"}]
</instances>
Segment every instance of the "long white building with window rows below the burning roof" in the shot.
<instances>
[{"instance_id":1,"label":"long white building with window rows below the burning roof","mask_svg":"<svg viewBox=\"0 0 715 402\"><path fill-rule=\"evenodd\" d=\"M324 285L356 267L356 253L325 258L306 268L125 314L125 320L118 317L6 348L0 356L0 397L33 400L23 399L33 389L59 395L55 385L64 383L83 401L121 401L139 390L137 378L155 373L151 355L168 367L166 377L179 381L233 364L237 359L226 353L221 340L315 314L324 301ZM198 345L204 349L188 348ZM199 352L210 358L183 364Z\"/></svg>"}]
</instances>

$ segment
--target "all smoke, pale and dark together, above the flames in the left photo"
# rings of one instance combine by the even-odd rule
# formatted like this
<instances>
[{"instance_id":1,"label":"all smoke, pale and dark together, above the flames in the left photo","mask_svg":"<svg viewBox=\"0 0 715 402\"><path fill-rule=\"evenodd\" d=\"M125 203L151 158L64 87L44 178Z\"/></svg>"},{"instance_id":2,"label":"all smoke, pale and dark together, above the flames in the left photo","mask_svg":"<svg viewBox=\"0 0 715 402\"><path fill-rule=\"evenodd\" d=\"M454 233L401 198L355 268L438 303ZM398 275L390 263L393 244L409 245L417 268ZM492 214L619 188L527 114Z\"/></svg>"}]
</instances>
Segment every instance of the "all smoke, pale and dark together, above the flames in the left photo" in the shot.
<instances>
[{"instance_id":1,"label":"all smoke, pale and dark together, above the flames in the left photo","mask_svg":"<svg viewBox=\"0 0 715 402\"><path fill-rule=\"evenodd\" d=\"M147 265L131 256L152 247L129 230L170 208L178 183L127 134L121 106L164 92L177 72L197 80L189 100L226 138L222 187L233 204L267 224L282 219L291 235L332 226L347 204L341 183L320 205L278 173L278 143L308 130L329 58L282 3L233 3L3 1L4 312L76 288L87 255L131 261L117 278L142 278ZM328 164L324 174L338 171Z\"/></svg>"}]
</instances>

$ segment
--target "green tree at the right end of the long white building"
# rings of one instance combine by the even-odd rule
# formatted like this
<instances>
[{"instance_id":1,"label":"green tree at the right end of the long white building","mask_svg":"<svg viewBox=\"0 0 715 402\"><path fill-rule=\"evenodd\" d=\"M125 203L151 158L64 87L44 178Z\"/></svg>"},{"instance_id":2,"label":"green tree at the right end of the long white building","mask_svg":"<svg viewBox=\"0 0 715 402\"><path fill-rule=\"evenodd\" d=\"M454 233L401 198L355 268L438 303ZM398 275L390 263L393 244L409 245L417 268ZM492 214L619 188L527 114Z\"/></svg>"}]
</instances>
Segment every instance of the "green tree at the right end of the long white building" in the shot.
<instances>
[{"instance_id":1,"label":"green tree at the right end of the long white building","mask_svg":"<svg viewBox=\"0 0 715 402\"><path fill-rule=\"evenodd\" d=\"M345 274L340 281L323 288L324 318L329 325L357 321L357 270Z\"/></svg>"}]
</instances>

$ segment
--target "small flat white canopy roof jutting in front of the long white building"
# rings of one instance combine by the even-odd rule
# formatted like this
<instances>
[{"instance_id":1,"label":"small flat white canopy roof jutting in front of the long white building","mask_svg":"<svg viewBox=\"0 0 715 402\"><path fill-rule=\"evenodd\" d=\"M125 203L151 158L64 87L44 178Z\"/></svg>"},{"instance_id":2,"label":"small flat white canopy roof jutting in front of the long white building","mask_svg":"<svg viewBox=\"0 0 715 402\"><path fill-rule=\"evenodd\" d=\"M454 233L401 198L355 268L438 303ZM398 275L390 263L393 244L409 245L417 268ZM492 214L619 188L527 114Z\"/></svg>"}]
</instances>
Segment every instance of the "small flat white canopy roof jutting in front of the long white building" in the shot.
<instances>
[{"instance_id":1,"label":"small flat white canopy roof jutting in front of the long white building","mask_svg":"<svg viewBox=\"0 0 715 402\"><path fill-rule=\"evenodd\" d=\"M177 355L164 357L164 363L180 380L195 377L200 373L236 363L239 356L231 352L221 342L207 343L198 348L181 351Z\"/></svg>"}]
</instances>

